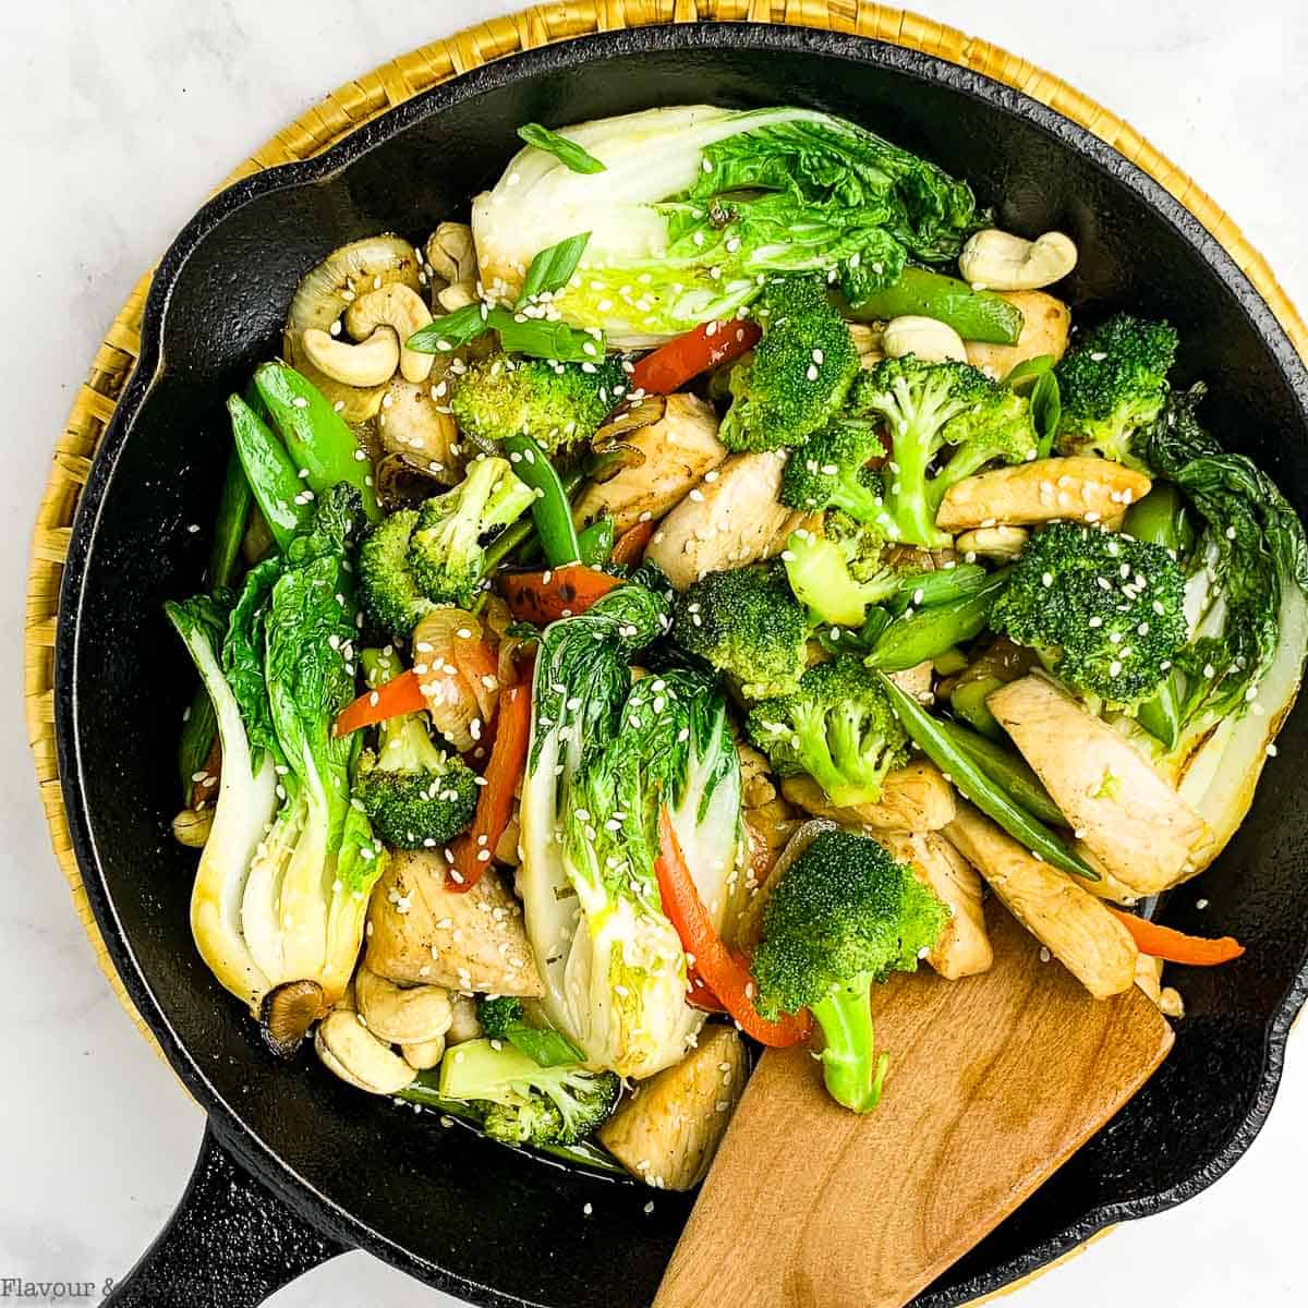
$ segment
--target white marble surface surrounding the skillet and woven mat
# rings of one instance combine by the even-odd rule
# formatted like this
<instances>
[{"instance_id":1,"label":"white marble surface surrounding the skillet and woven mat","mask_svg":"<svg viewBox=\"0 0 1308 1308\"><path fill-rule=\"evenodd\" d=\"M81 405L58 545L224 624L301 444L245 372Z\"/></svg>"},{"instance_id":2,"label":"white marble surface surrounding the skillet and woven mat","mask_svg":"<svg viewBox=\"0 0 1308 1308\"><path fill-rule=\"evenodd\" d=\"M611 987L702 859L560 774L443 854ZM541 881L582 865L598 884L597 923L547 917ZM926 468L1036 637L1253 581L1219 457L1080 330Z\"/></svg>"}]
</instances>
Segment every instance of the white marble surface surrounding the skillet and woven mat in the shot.
<instances>
[{"instance_id":1,"label":"white marble surface surrounding the skillet and woven mat","mask_svg":"<svg viewBox=\"0 0 1308 1308\"><path fill-rule=\"evenodd\" d=\"M347 77L511 0L44 0L0 5L0 247L21 313L0 317L3 441L0 1277L122 1273L188 1175L200 1113L101 978L50 854L18 701L22 583L48 450L105 326L228 169ZM947 22L1056 71L1194 174L1308 306L1308 10L1298 0L1154 5L929 0ZM22 283L20 283L22 284ZM1303 1303L1308 1037L1281 1101L1219 1186L1131 1226L1023 1291L1025 1308ZM30 1300L29 1300L30 1301ZM277 1308L449 1305L364 1254Z\"/></svg>"}]
</instances>

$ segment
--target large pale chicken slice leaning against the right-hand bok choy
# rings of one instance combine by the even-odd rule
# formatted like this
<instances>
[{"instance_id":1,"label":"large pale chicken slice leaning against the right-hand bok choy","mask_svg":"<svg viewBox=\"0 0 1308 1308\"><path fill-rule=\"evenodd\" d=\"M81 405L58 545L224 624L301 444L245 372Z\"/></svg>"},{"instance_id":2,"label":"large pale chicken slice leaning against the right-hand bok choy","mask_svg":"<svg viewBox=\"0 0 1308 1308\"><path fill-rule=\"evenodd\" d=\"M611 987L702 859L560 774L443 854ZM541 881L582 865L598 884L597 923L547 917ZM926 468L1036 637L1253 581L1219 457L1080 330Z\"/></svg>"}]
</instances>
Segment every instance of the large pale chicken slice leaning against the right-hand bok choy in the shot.
<instances>
[{"instance_id":1,"label":"large pale chicken slice leaning against the right-hand bok choy","mask_svg":"<svg viewBox=\"0 0 1308 1308\"><path fill-rule=\"evenodd\" d=\"M1039 674L986 705L1035 768L1076 838L1137 895L1156 895L1206 861L1207 823L1107 722Z\"/></svg>"}]
</instances>

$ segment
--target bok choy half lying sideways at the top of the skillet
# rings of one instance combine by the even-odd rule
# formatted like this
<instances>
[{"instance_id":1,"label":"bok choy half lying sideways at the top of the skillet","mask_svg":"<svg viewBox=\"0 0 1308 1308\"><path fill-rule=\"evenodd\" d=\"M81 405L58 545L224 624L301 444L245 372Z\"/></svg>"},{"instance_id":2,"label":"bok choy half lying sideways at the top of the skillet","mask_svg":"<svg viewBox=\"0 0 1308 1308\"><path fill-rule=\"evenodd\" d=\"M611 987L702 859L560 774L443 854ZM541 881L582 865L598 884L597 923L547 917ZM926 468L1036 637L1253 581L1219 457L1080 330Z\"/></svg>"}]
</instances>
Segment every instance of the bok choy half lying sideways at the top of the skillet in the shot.
<instances>
[{"instance_id":1,"label":"bok choy half lying sideways at the top of the skillet","mask_svg":"<svg viewBox=\"0 0 1308 1308\"><path fill-rule=\"evenodd\" d=\"M473 207L477 247L525 267L589 228L581 276L553 303L624 345L732 317L760 276L835 272L866 300L908 255L956 258L985 220L965 183L814 110L655 109L566 136L607 171L525 150Z\"/></svg>"}]
</instances>

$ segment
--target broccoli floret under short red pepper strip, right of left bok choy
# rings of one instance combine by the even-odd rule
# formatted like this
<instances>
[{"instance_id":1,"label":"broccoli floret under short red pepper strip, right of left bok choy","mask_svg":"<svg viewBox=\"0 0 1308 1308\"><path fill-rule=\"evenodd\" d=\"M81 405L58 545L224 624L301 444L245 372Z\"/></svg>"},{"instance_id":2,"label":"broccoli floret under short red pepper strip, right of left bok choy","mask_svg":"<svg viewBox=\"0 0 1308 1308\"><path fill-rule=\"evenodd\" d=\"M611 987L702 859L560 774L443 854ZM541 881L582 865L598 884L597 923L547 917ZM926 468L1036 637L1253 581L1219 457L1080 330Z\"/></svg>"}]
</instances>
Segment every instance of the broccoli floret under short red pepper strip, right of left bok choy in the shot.
<instances>
[{"instance_id":1,"label":"broccoli floret under short red pepper strip, right of left bok choy","mask_svg":"<svg viewBox=\"0 0 1308 1308\"><path fill-rule=\"evenodd\" d=\"M399 659L381 650L364 650L360 662L369 685L400 671ZM472 823L476 774L456 755L437 749L420 713L405 713L381 725L375 752L360 753L352 798L392 849L432 848Z\"/></svg>"}]
</instances>

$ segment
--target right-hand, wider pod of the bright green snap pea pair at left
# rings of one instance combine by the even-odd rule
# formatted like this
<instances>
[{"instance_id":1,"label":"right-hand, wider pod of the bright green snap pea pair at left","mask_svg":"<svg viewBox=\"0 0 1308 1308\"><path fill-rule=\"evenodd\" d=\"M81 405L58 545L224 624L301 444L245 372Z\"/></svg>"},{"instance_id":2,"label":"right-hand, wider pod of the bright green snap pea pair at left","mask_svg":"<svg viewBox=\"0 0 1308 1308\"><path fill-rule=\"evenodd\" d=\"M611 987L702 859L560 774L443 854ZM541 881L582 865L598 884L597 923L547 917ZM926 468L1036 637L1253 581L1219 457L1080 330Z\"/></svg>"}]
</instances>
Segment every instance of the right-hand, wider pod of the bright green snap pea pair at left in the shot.
<instances>
[{"instance_id":1,"label":"right-hand, wider pod of the bright green snap pea pair at left","mask_svg":"<svg viewBox=\"0 0 1308 1308\"><path fill-rule=\"evenodd\" d=\"M364 500L369 522L381 522L373 466L349 424L317 386L285 364L263 364L254 374L259 398L294 464L314 494L348 481Z\"/></svg>"}]
</instances>

